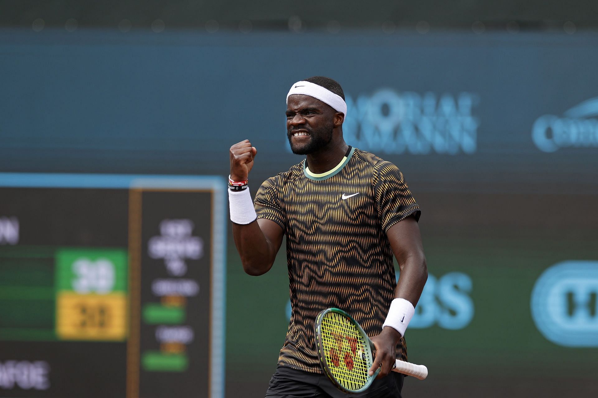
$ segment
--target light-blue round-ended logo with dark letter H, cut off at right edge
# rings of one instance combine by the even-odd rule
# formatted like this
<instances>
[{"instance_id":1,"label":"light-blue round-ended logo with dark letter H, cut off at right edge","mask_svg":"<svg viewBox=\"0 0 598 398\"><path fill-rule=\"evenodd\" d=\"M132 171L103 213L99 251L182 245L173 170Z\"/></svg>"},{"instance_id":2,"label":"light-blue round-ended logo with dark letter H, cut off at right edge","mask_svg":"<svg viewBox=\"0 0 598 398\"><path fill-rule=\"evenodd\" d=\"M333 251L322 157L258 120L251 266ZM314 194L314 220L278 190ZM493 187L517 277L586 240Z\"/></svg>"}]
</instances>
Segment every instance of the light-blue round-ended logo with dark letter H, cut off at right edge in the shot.
<instances>
[{"instance_id":1,"label":"light-blue round-ended logo with dark letter H, cut off at right edge","mask_svg":"<svg viewBox=\"0 0 598 398\"><path fill-rule=\"evenodd\" d=\"M598 261L563 261L532 291L532 317L545 338L566 347L598 347Z\"/></svg>"}]
</instances>

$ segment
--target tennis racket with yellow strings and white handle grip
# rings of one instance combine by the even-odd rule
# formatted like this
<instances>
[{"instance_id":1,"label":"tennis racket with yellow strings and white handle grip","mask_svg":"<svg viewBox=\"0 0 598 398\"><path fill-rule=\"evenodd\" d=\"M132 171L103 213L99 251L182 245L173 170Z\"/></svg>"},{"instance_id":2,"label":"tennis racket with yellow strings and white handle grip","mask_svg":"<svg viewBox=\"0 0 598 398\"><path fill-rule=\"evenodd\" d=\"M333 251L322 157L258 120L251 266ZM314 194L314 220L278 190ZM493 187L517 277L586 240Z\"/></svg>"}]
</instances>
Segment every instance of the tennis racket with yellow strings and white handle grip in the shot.
<instances>
[{"instance_id":1,"label":"tennis racket with yellow strings and white handle grip","mask_svg":"<svg viewBox=\"0 0 598 398\"><path fill-rule=\"evenodd\" d=\"M316 351L325 374L346 393L361 393L370 387L380 369L368 375L374 362L374 343L349 314L328 308L316 318ZM428 368L396 360L393 371L423 380Z\"/></svg>"}]
</instances>

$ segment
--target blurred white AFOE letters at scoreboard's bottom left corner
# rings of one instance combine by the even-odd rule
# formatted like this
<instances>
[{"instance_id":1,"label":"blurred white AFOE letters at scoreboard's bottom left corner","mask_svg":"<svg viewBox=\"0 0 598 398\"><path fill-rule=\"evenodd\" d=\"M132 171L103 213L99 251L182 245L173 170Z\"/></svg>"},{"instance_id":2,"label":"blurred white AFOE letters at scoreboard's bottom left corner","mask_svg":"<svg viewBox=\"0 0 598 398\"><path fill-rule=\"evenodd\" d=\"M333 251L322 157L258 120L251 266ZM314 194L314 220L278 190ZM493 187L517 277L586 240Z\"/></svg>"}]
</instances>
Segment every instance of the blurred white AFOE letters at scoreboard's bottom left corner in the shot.
<instances>
[{"instance_id":1,"label":"blurred white AFOE letters at scoreboard's bottom left corner","mask_svg":"<svg viewBox=\"0 0 598 398\"><path fill-rule=\"evenodd\" d=\"M50 365L38 360L7 360L0 362L0 389L47 390L50 388Z\"/></svg>"}]
</instances>

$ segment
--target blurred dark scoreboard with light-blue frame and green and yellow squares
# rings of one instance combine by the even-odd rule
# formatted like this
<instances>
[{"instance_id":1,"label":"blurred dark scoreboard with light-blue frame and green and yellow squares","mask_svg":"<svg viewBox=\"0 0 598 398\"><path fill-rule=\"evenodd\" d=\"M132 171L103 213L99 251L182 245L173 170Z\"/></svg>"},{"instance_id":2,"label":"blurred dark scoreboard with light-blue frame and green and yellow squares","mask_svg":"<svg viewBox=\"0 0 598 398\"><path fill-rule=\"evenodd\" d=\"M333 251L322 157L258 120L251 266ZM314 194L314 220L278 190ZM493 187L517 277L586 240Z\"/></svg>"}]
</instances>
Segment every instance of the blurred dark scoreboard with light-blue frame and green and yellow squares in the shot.
<instances>
[{"instance_id":1,"label":"blurred dark scoreboard with light-blue frame and green and yellow squares","mask_svg":"<svg viewBox=\"0 0 598 398\"><path fill-rule=\"evenodd\" d=\"M224 396L224 193L0 174L0 397Z\"/></svg>"}]
</instances>

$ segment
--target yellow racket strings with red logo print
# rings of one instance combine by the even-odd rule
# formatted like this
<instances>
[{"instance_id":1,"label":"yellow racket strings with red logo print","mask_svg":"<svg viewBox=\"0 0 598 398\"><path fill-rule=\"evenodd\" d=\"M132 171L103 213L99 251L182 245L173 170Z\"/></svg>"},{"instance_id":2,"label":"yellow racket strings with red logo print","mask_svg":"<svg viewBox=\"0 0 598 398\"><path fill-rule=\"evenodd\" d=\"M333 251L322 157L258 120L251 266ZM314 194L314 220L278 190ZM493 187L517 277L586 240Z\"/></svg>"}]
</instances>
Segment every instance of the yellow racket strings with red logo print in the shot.
<instances>
[{"instance_id":1,"label":"yellow racket strings with red logo print","mask_svg":"<svg viewBox=\"0 0 598 398\"><path fill-rule=\"evenodd\" d=\"M347 390L357 391L368 381L371 363L358 329L341 314L329 312L321 322L322 345L328 369ZM365 357L365 360L364 360Z\"/></svg>"}]
</instances>

